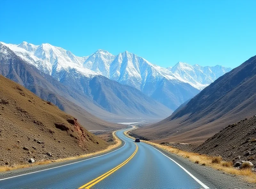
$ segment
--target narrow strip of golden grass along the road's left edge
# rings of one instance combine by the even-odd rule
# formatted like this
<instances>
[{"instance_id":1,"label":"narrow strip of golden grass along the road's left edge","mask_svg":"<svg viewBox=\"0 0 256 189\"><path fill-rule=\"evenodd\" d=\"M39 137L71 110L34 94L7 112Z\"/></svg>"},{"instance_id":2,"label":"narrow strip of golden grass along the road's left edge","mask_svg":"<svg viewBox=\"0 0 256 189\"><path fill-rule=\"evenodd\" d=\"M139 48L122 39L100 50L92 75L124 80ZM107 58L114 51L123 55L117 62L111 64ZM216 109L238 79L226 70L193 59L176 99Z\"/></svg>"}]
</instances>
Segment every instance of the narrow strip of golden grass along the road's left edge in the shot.
<instances>
[{"instance_id":1,"label":"narrow strip of golden grass along the road's left edge","mask_svg":"<svg viewBox=\"0 0 256 189\"><path fill-rule=\"evenodd\" d=\"M73 157L67 157L67 158L61 158L61 159L57 159L57 160L42 160L42 161L38 161L32 164L14 164L12 167L8 166L8 165L3 165L0 166L0 172L5 172L5 171L9 171L9 170L16 170L16 169L21 169L21 168L27 168L27 167L31 167L31 166L36 166L36 165L44 165L44 164L49 164L49 163L53 163L53 162L64 162L64 161L70 161L70 160L76 160L76 159L80 159L80 158L85 158L85 157L90 157L93 155L98 155L98 154L102 154L102 153L106 153L116 147L119 147L122 144L122 141L116 136L116 131L114 131L113 134L113 138L115 140L115 144L108 146L106 149L104 150L100 150L94 153L90 153L90 154L84 154L84 155L79 155L79 156L73 156Z\"/></svg>"}]
</instances>

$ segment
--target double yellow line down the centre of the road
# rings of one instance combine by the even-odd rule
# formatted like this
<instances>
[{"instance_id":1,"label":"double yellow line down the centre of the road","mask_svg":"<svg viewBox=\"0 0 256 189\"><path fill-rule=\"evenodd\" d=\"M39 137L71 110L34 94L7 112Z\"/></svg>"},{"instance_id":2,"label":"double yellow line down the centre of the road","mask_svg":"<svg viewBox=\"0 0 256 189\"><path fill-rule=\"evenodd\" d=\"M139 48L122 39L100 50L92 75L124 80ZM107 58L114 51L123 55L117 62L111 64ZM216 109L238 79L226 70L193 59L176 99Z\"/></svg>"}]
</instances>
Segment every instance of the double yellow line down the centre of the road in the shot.
<instances>
[{"instance_id":1,"label":"double yellow line down the centre of the road","mask_svg":"<svg viewBox=\"0 0 256 189\"><path fill-rule=\"evenodd\" d=\"M125 160L123 163L121 163L120 165L116 166L114 169L111 169L110 171L104 173L103 175L101 175L100 177L95 178L94 180L86 183L85 185L79 187L78 189L89 189L90 187L92 187L93 185L96 185L98 182L100 182L101 180L103 180L104 178L108 177L109 175L111 175L113 172L115 172L116 170L118 170L119 168L123 167L126 163L128 163L133 156L137 153L138 151L138 145L136 145L136 150L133 152L133 154L127 159Z\"/></svg>"}]
</instances>

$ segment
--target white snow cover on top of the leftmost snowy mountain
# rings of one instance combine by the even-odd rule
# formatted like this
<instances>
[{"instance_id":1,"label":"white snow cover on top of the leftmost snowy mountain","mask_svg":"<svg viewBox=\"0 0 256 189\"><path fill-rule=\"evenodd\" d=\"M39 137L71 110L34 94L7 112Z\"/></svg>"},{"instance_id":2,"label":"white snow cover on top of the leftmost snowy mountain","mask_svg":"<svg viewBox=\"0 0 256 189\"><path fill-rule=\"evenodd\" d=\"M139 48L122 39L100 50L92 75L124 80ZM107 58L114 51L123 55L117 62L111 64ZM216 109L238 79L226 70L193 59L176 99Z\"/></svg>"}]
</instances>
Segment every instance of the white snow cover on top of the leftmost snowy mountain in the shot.
<instances>
[{"instance_id":1,"label":"white snow cover on top of the leftmost snowy mountain","mask_svg":"<svg viewBox=\"0 0 256 189\"><path fill-rule=\"evenodd\" d=\"M77 57L68 50L52 46L48 43L41 45L33 45L27 42L22 42L19 45L1 43L9 47L25 62L36 66L40 71L52 76L73 69L81 72L86 77L98 75L83 67L83 63L88 57Z\"/></svg>"}]
</instances>

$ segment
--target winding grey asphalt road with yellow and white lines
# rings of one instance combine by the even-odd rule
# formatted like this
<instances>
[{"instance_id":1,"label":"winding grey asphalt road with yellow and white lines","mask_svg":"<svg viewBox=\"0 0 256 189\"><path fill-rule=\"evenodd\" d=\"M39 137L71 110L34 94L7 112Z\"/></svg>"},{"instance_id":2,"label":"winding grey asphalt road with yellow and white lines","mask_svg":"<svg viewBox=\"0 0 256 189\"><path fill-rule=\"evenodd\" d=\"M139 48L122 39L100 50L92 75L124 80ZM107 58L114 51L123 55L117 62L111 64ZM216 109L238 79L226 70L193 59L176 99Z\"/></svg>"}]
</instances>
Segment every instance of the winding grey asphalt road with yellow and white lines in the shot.
<instances>
[{"instance_id":1,"label":"winding grey asphalt road with yellow and white lines","mask_svg":"<svg viewBox=\"0 0 256 189\"><path fill-rule=\"evenodd\" d=\"M208 188L161 151L123 132L116 132L123 145L110 153L2 178L0 188Z\"/></svg>"}]
</instances>

